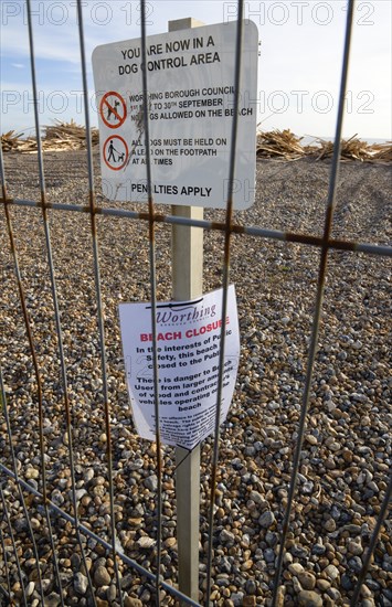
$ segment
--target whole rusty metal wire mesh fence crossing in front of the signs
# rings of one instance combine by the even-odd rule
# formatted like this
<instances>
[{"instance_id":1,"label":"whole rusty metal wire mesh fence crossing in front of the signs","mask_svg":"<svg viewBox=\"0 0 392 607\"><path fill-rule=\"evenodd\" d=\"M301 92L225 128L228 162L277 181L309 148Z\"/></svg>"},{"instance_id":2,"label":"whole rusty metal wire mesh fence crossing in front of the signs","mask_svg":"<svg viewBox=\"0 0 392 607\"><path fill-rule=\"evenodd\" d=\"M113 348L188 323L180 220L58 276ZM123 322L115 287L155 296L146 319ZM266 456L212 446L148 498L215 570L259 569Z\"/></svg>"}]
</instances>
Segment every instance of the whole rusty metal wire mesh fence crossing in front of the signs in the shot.
<instances>
[{"instance_id":1,"label":"whole rusty metal wire mesh fence crossing in front of the signs","mask_svg":"<svg viewBox=\"0 0 392 607\"><path fill-rule=\"evenodd\" d=\"M234 89L235 94L235 104L234 107L239 107L239 94L240 94L240 68L241 68L241 49L242 49L242 14L243 14L244 3L243 0L237 1L237 33L235 40L235 73L234 78ZM231 239L233 235L245 236L255 236L258 238L265 238L269 242L285 242L301 244L310 247L316 247L319 252L319 268L318 268L318 283L317 283L317 294L315 300L315 315L312 320L310 344L306 368L306 377L305 386L303 393L303 402L300 408L300 418L298 422L298 433L297 433L297 445L292 462L290 480L288 487L288 500L285 510L285 515L279 530L279 541L278 541L278 554L276 557L276 567L275 567L275 578L274 587L272 588L272 603L273 607L277 606L282 594L280 588L283 585L282 582L282 569L283 569L283 560L286 550L286 539L287 533L290 528L290 514L292 508L295 501L296 491L297 491L297 478L299 472L299 461L300 454L303 448L303 441L306 432L307 414L309 406L309 394L311 382L314 379L314 366L318 347L319 339L319 329L320 329L320 318L324 306L324 294L325 294L325 280L327 275L327 262L330 252L332 251L345 251L352 254L367 254L374 255L379 258L382 257L392 257L392 247L388 245L377 245L369 243L358 243L353 241L343 241L331 237L332 222L333 222L333 211L336 206L336 190L339 175L339 163L340 163L340 140L341 140L341 129L343 120L343 102L346 95L346 82L348 74L349 56L350 56L350 38L352 29L352 15L354 10L354 1L349 0L348 3L348 14L347 14L347 26L346 26L346 39L345 39L345 52L342 61L342 74L340 81L340 95L339 95L339 109L338 109L338 119L335 137L335 151L330 171L329 179L329 192L328 201L326 206L326 216L322 236L317 237L308 234L297 234L293 232L283 232L277 230L266 230L258 226L248 226L235 223L233 219L233 184L235 177L235 152L236 152L236 131L237 131L237 111L233 113L233 126L232 126L232 142L230 151L230 166L229 166L229 194L227 194L227 204L225 210L225 219L222 222L215 221L203 221L194 219L186 219L173 215L166 215L156 211L155 202L152 198L152 175L151 175L151 163L150 163L150 149L149 149L149 118L147 111L147 104L144 104L144 136L145 136L145 147L146 147L146 158L147 158L147 187L148 187L148 212L137 212L126 209L110 209L98 205L96 202L95 187L94 187L94 171L93 171L93 150L91 141L91 128L89 128L89 110L88 110L88 88L87 88L87 68L86 68L86 56L85 56L85 42L84 42L84 25L83 25L83 2L81 0L76 3L77 11L77 23L78 23L78 34L80 34L80 47L81 47L81 72L83 79L83 89L84 89L84 111L85 111L85 125L86 125L86 147L87 147L87 167L88 167L88 188L89 188L89 201L87 205L78 204L66 204L66 203L52 203L47 201L46 188L45 188L45 175L44 175L44 160L42 153L42 145L40 137L40 121L39 121L39 99L38 99L38 85L35 76L35 55L34 55L34 44L33 44L33 29L31 20L31 2L27 0L27 14L28 14L28 29L29 29L29 42L30 42L30 60L31 60L31 73L32 73L32 88L33 88L33 99L34 99L34 124L35 124L35 135L38 141L38 164L39 164L39 181L40 181L40 191L41 200L25 200L22 198L12 198L8 195L6 173L3 166L2 150L0 149L0 177L1 177L1 188L2 196L0 202L4 207L4 217L8 227L8 238L10 251L12 254L13 269L15 274L15 284L18 287L19 300L21 305L22 316L24 320L25 333L30 348L30 355L33 362L34 375L35 375L35 385L36 393L34 401L39 409L39 450L40 450L40 487L34 488L31 483L27 482L21 478L18 472L18 464L13 449L13 432L12 424L8 405L8 395L3 385L2 370L0 365L0 396L2 404L2 414L6 420L6 429L8 436L8 447L10 449L10 459L11 468L0 462L0 494L1 494L1 518L0 518L0 545L2 550L2 561L0 558L0 567L4 571L4 582L0 581L0 600L1 596L9 604L29 604L29 584L27 582L27 575L22 569L18 542L15 540L15 534L12 529L12 521L10 518L10 503L8 502L8 497L14 483L18 491L18 499L22 505L24 518L28 525L28 535L31 540L32 553L35 560L35 569L38 578L38 587L40 593L40 600L44 604L44 592L43 592L43 581L42 581L42 564L39 550L36 546L36 532L34 533L32 529L32 512L30 512L30 497L33 497L38 504L36 508L42 509L42 513L45 517L47 537L50 544L50 553L52 558L52 574L54 579L54 586L57 589L59 601L61 605L65 605L64 599L64 589L62 583L62 576L59 566L59 544L56 537L56 520L61 518L71 524L73 531L76 535L77 550L81 554L81 558L84 563L84 571L87 577L87 596L92 600L93 605L97 605L94 586L92 577L89 574L89 568L87 566L86 560L86 541L87 539L94 540L103 549L105 549L113 560L113 567L115 572L115 582L116 582L116 592L115 599L119 604L124 605L123 589L121 589L121 578L118 569L118 562L130 567L135 573L140 574L146 581L149 581L155 588L155 604L160 605L160 590L165 590L171 597L177 598L183 605L199 606L200 603L193 600L190 597L187 597L172 584L167 583L161 575L161 557L162 557L162 476L163 476L163 460L162 460L162 446L160 438L160 428L157 424L156 428L156 469L157 469L157 491L156 491L156 563L155 572L150 568L140 565L134 558L130 558L125 554L125 552L119 547L116 536L116 496L114 489L114 472L113 472L113 439L112 439L112 419L110 419L110 403L109 403L109 390L108 390L108 377L107 377L107 361L106 361L106 345L105 345L105 320L104 320L104 306L103 306L103 295L102 295L102 279L100 279L100 269L99 269L99 246L98 246L98 235L97 235L97 221L99 216L106 217L119 217L121 220L135 220L144 221L148 223L148 241L149 241L149 281L150 281L150 300L151 300L151 326L152 326L152 360L153 360L153 385L155 385L155 415L159 419L160 416L160 394L159 394L159 363L158 363L158 340L157 340L157 284L156 284L156 226L159 223L169 224L169 225L183 225L183 226L193 226L201 230L216 232L223 234L223 265L222 265L222 318L225 317L227 308L227 289L230 284L230 258L231 258ZM141 0L141 51L146 61L147 57L147 32L146 32L146 2ZM147 71L144 71L142 78L142 94L144 98L148 98L148 78ZM36 350L40 347L39 343L34 340L34 332L32 330L32 322L27 306L27 296L22 279L22 273L19 265L17 244L14 238L15 232L15 220L12 221L10 213L11 207L32 207L41 210L43 228L45 236L45 248L49 266L49 275L51 283L51 294L52 294L52 305L53 305L53 317L55 322L55 332L57 340L59 349L59 360L61 366L62 375L62 394L64 402L64 416L66 424L66 434L67 434L67 460L71 473L71 493L72 493L72 513L66 512L59 504L54 503L49 498L47 491L47 471L45 464L45 439L43 432L43 396L42 396L42 369L40 369ZM63 334L62 334L62 321L61 321L61 307L59 303L57 286L56 286L56 273L55 264L52 253L52 237L50 230L49 221L49 211L56 212L72 212L72 213L88 213L91 221L91 233L92 233L92 251L93 251L93 266L94 266L94 281L95 281L95 300L96 300L96 323L98 331L98 341L99 341L99 354L100 354L100 373L103 377L103 387L100 393L100 401L103 406L103 416L105 419L105 432L107 436L106 440L106 470L108 478L108 489L109 489L109 522L108 522L108 536L109 540L105 540L99 534L95 533L89 525L83 524L78 517L78 501L77 501L77 483L76 483L76 473L75 473L75 460L74 460L74 427L72 424L72 406L68 394L68 380L67 380L67 366L66 358L64 354L63 345ZM212 458L211 458L211 476L210 476L210 498L209 498L209 520L208 520L208 550L206 550L206 584L205 584L205 606L209 606L211 589L214 578L214 518L215 518L215 493L218 486L218 471L219 471L219 455L220 455L220 407L222 401L222 385L223 385L223 369L224 369L224 345L225 345L225 330L222 324L221 336L220 336L220 360L219 360L219 380L218 380L218 396L216 396L216 415L215 415L215 433L212 444ZM17 493L14 493L15 496ZM374 553L377 541L379 539L381 528L388 515L388 509L391 501L392 494L392 477L389 479L388 488L384 493L384 498L378 513L377 523L374 525L373 532L370 537L369 546L365 552L361 572L358 575L356 586L352 592L351 597L351 607L357 607L360 600L361 586L365 582L365 575L371 565L371 558ZM29 498L25 498L28 496ZM12 579L11 579L12 574ZM13 598L15 593L15 583L14 579L19 578L19 603Z\"/></svg>"}]
</instances>

